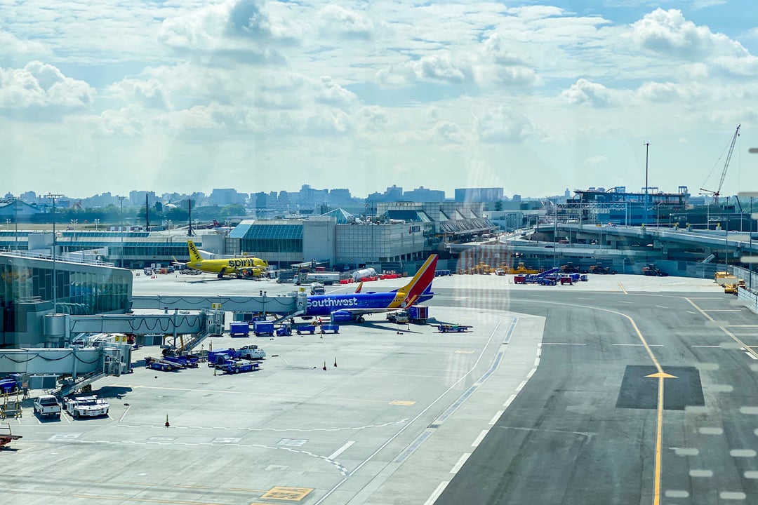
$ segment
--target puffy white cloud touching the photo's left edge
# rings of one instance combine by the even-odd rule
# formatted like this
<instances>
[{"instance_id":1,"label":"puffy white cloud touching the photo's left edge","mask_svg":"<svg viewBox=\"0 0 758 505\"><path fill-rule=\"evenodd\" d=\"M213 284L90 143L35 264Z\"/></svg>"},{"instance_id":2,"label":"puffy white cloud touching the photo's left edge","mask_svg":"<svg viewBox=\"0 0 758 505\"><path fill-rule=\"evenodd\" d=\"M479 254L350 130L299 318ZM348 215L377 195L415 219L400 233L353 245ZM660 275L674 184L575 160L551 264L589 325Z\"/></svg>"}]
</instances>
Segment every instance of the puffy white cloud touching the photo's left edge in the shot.
<instances>
[{"instance_id":1,"label":"puffy white cloud touching the photo's left edge","mask_svg":"<svg viewBox=\"0 0 758 505\"><path fill-rule=\"evenodd\" d=\"M0 68L0 109L73 110L88 107L94 96L95 90L84 81L41 61L23 69Z\"/></svg>"}]
</instances>

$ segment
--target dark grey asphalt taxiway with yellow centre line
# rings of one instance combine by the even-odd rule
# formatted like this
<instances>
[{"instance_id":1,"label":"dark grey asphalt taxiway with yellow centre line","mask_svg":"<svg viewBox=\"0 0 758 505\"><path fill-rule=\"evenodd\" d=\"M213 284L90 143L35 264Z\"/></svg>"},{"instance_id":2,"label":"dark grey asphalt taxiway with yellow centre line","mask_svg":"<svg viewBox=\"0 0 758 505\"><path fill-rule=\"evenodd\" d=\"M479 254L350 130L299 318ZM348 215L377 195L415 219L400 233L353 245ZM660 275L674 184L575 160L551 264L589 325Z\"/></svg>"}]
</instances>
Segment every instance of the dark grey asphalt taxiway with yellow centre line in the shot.
<instances>
[{"instance_id":1,"label":"dark grey asphalt taxiway with yellow centre line","mask_svg":"<svg viewBox=\"0 0 758 505\"><path fill-rule=\"evenodd\" d=\"M755 314L723 295L540 295L501 301L546 317L537 373L436 503L756 500Z\"/></svg>"}]
</instances>

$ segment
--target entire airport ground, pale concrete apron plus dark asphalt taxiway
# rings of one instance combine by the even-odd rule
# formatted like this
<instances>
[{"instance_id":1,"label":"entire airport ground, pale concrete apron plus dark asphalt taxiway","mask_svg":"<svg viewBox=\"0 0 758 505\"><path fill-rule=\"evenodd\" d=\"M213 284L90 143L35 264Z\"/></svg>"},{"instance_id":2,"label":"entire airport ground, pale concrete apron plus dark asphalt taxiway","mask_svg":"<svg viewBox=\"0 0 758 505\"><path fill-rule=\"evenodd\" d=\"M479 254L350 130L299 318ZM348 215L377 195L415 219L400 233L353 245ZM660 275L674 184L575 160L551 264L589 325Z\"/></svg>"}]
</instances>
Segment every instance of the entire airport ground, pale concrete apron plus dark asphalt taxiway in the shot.
<instances>
[{"instance_id":1,"label":"entire airport ground, pale concrete apron plus dark asphalt taxiway","mask_svg":"<svg viewBox=\"0 0 758 505\"><path fill-rule=\"evenodd\" d=\"M135 276L133 293L293 288L169 274ZM202 347L258 344L262 368L137 366L94 385L111 404L103 419L41 420L25 401L23 417L11 419L23 438L2 450L0 488L25 504L758 499L758 356L747 341L758 323L712 279L615 275L537 286L479 275L441 277L433 288L435 321L470 331L374 314L336 335L222 336ZM742 350L727 332L745 340ZM133 360L158 351L140 349ZM667 393L656 422L655 391L650 408L641 377L650 366L655 373L658 354L664 368L682 368L688 386Z\"/></svg>"}]
</instances>

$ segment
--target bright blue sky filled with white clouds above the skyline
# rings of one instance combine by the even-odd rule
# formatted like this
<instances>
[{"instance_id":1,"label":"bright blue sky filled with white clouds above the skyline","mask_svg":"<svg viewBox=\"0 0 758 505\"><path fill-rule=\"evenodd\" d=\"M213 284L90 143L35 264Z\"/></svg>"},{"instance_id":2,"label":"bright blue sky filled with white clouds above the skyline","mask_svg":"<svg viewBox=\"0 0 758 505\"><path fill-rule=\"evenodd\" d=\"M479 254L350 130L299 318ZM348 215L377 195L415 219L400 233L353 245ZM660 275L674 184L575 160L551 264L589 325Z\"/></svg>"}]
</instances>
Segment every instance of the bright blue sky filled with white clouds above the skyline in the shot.
<instances>
[{"instance_id":1,"label":"bright blue sky filled with white clouds above the skyline","mask_svg":"<svg viewBox=\"0 0 758 505\"><path fill-rule=\"evenodd\" d=\"M752 1L0 0L0 194L758 191ZM646 147L649 143L649 147Z\"/></svg>"}]
</instances>

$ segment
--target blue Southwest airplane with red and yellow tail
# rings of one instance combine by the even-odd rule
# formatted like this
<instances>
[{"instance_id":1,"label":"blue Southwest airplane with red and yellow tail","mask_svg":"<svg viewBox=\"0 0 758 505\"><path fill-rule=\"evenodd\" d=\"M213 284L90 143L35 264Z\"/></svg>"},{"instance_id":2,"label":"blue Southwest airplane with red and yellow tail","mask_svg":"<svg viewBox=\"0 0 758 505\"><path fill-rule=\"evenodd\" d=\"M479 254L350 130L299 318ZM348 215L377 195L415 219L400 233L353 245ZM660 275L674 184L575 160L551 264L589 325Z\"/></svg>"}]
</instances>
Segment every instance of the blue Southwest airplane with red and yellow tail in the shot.
<instances>
[{"instance_id":1,"label":"blue Southwest airplane with red and yellow tail","mask_svg":"<svg viewBox=\"0 0 758 505\"><path fill-rule=\"evenodd\" d=\"M331 316L340 321L363 323L363 316L374 312L407 309L434 296L431 282L437 267L437 254L432 254L411 281L393 291L351 293L349 295L310 295L304 316Z\"/></svg>"}]
</instances>

